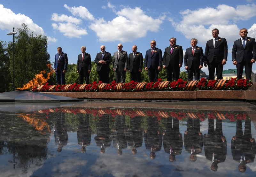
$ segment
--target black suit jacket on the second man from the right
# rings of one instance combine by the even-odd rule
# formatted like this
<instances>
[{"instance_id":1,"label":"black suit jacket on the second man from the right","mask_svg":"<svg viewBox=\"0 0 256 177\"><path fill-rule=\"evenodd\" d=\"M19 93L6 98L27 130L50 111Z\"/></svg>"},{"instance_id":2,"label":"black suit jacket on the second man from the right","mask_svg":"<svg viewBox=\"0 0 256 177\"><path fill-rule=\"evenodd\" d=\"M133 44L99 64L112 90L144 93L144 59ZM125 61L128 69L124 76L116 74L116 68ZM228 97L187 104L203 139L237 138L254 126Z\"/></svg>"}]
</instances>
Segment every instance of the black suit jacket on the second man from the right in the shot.
<instances>
[{"instance_id":1,"label":"black suit jacket on the second man from the right","mask_svg":"<svg viewBox=\"0 0 256 177\"><path fill-rule=\"evenodd\" d=\"M228 59L228 44L225 38L219 37L215 48L213 46L213 39L206 42L204 61L212 63L214 56L217 61L222 61L224 58Z\"/></svg>"}]
</instances>

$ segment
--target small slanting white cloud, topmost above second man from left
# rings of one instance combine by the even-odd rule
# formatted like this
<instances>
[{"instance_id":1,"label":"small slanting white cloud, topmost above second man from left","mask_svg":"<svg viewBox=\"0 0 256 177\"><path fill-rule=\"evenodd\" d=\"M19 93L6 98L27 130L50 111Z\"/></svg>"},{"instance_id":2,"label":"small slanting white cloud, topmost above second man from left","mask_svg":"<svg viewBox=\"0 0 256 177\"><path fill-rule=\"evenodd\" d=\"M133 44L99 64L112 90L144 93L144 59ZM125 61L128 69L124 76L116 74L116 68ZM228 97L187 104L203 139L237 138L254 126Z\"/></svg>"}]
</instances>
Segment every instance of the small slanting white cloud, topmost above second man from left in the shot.
<instances>
[{"instance_id":1,"label":"small slanting white cloud, topmost above second man from left","mask_svg":"<svg viewBox=\"0 0 256 177\"><path fill-rule=\"evenodd\" d=\"M94 20L93 15L88 11L87 8L83 6L79 7L69 7L66 4L64 4L64 7L72 13L74 16L79 16L82 19L89 19L89 20Z\"/></svg>"}]
</instances>

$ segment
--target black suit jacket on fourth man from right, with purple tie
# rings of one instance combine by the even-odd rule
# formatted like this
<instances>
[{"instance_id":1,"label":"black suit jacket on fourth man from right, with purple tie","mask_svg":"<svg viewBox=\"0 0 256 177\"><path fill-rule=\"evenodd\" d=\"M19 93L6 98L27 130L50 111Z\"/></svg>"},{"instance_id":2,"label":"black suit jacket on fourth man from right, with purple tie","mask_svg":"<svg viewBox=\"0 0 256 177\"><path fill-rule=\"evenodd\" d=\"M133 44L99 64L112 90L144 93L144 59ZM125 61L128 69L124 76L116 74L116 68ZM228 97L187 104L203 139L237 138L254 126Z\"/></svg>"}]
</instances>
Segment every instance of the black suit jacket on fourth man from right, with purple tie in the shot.
<instances>
[{"instance_id":1,"label":"black suit jacket on fourth man from right, with purple tie","mask_svg":"<svg viewBox=\"0 0 256 177\"><path fill-rule=\"evenodd\" d=\"M165 48L163 65L166 65L166 67L168 67L168 65L170 64L173 67L179 68L179 64L182 65L182 63L183 63L182 46L175 45L172 54L171 54L171 46Z\"/></svg>"}]
</instances>

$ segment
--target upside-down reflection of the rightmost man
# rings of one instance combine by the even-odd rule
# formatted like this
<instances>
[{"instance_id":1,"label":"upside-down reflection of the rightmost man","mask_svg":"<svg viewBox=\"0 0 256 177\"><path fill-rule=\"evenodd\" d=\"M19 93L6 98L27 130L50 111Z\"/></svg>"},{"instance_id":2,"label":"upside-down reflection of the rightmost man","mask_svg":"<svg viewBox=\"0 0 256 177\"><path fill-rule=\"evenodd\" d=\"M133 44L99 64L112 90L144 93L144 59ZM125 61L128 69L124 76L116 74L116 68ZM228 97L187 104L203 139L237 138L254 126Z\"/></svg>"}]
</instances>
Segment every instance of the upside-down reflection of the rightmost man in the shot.
<instances>
[{"instance_id":1,"label":"upside-down reflection of the rightmost man","mask_svg":"<svg viewBox=\"0 0 256 177\"><path fill-rule=\"evenodd\" d=\"M237 120L237 132L231 140L231 152L233 159L240 162L238 170L245 172L245 164L252 163L256 154L255 139L252 138L251 132L251 120L245 120L244 134L242 121Z\"/></svg>"}]
</instances>

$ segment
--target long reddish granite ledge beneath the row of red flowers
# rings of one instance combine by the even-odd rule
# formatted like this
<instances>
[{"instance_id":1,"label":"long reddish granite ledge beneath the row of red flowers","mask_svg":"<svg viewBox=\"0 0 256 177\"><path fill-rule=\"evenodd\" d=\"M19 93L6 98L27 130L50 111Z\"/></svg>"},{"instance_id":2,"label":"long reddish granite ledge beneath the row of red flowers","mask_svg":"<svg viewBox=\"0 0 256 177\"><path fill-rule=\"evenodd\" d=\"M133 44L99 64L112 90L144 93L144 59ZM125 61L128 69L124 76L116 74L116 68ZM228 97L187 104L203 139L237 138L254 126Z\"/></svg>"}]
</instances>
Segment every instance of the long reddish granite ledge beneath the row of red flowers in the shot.
<instances>
[{"instance_id":1,"label":"long reddish granite ledge beneath the row of red flowers","mask_svg":"<svg viewBox=\"0 0 256 177\"><path fill-rule=\"evenodd\" d=\"M256 91L223 91L223 90L200 90L200 91L155 91L155 92L47 92L47 94L67 96L82 99L135 99L135 100L256 100L250 94ZM46 92L45 92L46 93ZM256 95L256 93L255 93ZM255 96L256 97L256 96Z\"/></svg>"}]
</instances>

